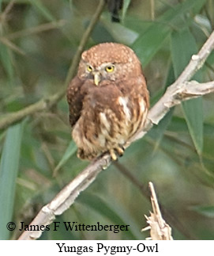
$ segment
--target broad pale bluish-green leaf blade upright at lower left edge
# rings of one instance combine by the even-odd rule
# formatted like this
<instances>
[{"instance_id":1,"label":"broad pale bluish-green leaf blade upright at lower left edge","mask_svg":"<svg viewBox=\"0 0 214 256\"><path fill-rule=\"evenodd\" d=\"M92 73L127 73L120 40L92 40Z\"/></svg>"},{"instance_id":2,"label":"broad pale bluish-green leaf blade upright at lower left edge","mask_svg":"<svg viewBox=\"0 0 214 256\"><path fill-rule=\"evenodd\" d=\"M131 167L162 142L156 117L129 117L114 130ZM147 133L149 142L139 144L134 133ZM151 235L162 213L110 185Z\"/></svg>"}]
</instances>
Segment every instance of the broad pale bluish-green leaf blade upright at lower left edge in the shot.
<instances>
[{"instance_id":1,"label":"broad pale bluish-green leaf blade upright at lower left edge","mask_svg":"<svg viewBox=\"0 0 214 256\"><path fill-rule=\"evenodd\" d=\"M23 122L8 128L0 162L0 239L9 239L6 224L12 221L19 167Z\"/></svg>"}]
</instances>

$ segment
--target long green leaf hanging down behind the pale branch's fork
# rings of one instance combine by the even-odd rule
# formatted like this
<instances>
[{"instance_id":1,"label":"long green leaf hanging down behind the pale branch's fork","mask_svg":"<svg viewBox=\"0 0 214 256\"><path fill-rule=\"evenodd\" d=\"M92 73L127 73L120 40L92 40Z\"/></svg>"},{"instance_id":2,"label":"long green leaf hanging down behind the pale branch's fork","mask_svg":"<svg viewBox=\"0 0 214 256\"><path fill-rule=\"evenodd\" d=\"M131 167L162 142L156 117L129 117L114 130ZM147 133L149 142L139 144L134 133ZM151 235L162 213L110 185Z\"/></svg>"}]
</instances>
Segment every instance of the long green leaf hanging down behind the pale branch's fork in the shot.
<instances>
[{"instance_id":1,"label":"long green leaf hanging down behind the pale branch's fork","mask_svg":"<svg viewBox=\"0 0 214 256\"><path fill-rule=\"evenodd\" d=\"M197 53L197 44L189 29L172 32L171 34L171 55L175 71L175 77L182 73L190 62L191 56ZM201 74L194 76L198 82L201 81ZM182 102L182 110L186 118L190 135L193 139L197 153L201 155L203 148L203 111L202 99L197 98Z\"/></svg>"}]
</instances>

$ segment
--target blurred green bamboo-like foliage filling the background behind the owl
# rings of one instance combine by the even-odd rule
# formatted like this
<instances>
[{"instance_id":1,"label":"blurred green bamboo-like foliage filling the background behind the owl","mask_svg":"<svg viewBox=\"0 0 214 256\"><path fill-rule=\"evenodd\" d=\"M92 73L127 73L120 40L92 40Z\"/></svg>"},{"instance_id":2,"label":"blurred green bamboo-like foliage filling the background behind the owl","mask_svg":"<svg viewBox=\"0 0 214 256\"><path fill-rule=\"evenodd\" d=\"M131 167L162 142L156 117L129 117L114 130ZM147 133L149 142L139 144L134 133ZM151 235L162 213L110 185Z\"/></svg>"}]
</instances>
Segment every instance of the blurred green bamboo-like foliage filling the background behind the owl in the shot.
<instances>
[{"instance_id":1,"label":"blurred green bamboo-like foliage filling the background behind the owl","mask_svg":"<svg viewBox=\"0 0 214 256\"><path fill-rule=\"evenodd\" d=\"M0 1L1 117L57 92L98 0ZM186 67L214 27L213 0L125 1L120 23L107 8L86 48L127 44L141 59L153 105ZM195 79L214 79L214 55ZM214 95L188 101L133 143L119 162L145 187L156 186L174 216L174 239L214 239ZM16 239L6 222L29 224L87 166L70 138L66 99L0 133L0 237ZM114 165L99 174L56 221L129 224L130 231L45 231L41 239L145 239L150 202ZM178 221L176 221L178 220ZM179 227L182 223L182 227ZM186 230L183 228L185 227ZM190 234L190 235L186 235Z\"/></svg>"}]
</instances>

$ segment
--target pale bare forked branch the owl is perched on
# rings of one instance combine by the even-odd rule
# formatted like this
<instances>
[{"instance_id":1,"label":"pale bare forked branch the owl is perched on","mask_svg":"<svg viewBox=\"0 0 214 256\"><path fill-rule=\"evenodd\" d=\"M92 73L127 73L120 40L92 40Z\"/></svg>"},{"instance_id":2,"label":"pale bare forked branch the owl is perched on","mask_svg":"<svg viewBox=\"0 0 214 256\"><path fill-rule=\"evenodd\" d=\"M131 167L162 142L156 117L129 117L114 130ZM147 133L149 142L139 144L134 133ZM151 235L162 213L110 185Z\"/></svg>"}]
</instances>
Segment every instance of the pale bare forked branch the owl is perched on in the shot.
<instances>
[{"instance_id":1,"label":"pale bare forked branch the owl is perched on","mask_svg":"<svg viewBox=\"0 0 214 256\"><path fill-rule=\"evenodd\" d=\"M214 82L207 82L199 84L197 82L187 82L198 69L205 63L209 53L214 48L214 32L209 36L200 52L193 55L190 63L182 72L182 75L171 86L168 87L166 93L160 98L160 101L152 107L148 113L148 119L144 131L138 132L126 143L126 147L133 141L145 136L146 131L152 128L153 124L158 124L164 117L167 111L174 105L180 104L182 101L192 97L199 97L214 91ZM36 218L32 220L32 225L47 225L51 224L56 215L62 214L67 208L73 204L73 201L78 197L79 193L86 189L88 185L96 179L96 176L111 164L111 157L108 153L103 154L98 159L91 162L88 167L81 171L73 181L61 192L58 193L51 203L45 205ZM38 239L42 235L42 231L24 231L19 239Z\"/></svg>"}]
</instances>

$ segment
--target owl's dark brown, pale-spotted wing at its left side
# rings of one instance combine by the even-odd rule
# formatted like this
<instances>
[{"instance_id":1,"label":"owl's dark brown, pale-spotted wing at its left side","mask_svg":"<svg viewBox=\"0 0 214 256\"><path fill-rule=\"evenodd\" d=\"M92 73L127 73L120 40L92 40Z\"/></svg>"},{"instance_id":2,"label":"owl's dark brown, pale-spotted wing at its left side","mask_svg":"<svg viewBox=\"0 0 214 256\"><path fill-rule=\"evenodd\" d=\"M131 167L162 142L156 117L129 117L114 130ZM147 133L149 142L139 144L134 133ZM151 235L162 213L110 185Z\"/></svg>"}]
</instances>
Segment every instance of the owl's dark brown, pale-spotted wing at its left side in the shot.
<instances>
[{"instance_id":1,"label":"owl's dark brown, pale-spotted wing at its left side","mask_svg":"<svg viewBox=\"0 0 214 256\"><path fill-rule=\"evenodd\" d=\"M81 116L84 94L81 92L83 82L77 76L73 78L67 89L67 101L69 104L69 123L73 127Z\"/></svg>"}]
</instances>

